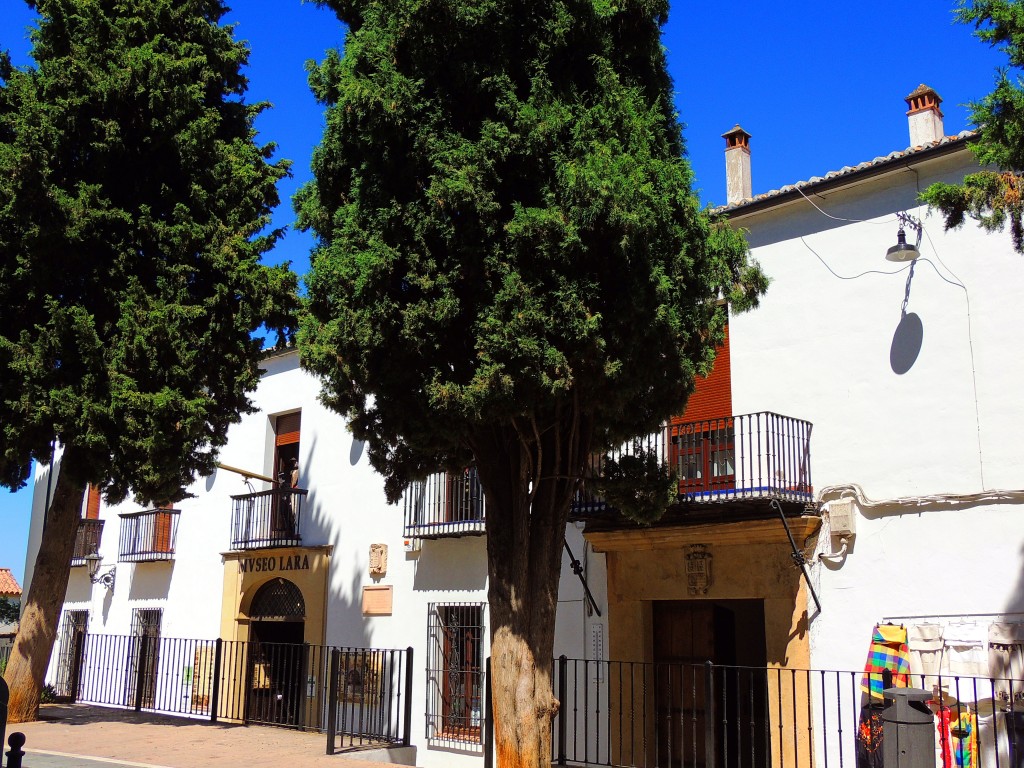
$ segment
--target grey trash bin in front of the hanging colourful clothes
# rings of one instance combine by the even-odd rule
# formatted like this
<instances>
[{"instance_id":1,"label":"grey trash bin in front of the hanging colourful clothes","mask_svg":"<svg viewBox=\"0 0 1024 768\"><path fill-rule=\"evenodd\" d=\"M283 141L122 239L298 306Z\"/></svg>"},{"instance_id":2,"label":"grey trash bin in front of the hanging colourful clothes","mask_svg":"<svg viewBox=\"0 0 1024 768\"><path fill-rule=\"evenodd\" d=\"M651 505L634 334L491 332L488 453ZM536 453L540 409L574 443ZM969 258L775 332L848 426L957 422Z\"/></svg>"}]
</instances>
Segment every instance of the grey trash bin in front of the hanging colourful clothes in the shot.
<instances>
[{"instance_id":1,"label":"grey trash bin in front of the hanging colourful clothes","mask_svg":"<svg viewBox=\"0 0 1024 768\"><path fill-rule=\"evenodd\" d=\"M882 755L886 768L934 768L935 720L922 688L886 688L882 711Z\"/></svg>"}]
</instances>

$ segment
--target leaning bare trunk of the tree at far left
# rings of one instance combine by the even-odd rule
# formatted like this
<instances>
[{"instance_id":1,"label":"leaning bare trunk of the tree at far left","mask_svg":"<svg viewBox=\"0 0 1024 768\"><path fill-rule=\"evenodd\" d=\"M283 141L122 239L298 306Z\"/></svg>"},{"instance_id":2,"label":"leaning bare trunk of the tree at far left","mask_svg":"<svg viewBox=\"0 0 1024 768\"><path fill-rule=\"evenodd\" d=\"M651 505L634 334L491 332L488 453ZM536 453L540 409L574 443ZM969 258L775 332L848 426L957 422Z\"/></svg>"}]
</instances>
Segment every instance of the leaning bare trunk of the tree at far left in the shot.
<instances>
[{"instance_id":1,"label":"leaning bare trunk of the tree at far left","mask_svg":"<svg viewBox=\"0 0 1024 768\"><path fill-rule=\"evenodd\" d=\"M61 464L74 460L73 451L65 451ZM10 686L7 719L11 723L29 722L39 714L39 695L56 639L60 606L68 591L75 536L85 497L85 485L76 483L70 475L69 472L57 474L22 623L4 672L4 679Z\"/></svg>"}]
</instances>

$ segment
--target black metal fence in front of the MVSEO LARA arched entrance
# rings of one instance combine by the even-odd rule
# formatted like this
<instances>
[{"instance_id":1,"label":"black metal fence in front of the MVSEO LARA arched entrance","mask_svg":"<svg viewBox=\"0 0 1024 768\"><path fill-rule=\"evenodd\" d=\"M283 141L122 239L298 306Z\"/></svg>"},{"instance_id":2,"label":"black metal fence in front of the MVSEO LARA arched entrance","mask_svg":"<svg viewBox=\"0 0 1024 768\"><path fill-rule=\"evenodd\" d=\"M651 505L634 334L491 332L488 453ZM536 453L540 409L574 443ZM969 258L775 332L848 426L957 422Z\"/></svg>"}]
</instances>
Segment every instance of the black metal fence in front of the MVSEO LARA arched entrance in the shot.
<instances>
[{"instance_id":1,"label":"black metal fence in front of the MVSEO LARA arched entrance","mask_svg":"<svg viewBox=\"0 0 1024 768\"><path fill-rule=\"evenodd\" d=\"M329 750L409 742L412 649L68 637L51 676L73 701L329 732Z\"/></svg>"}]
</instances>

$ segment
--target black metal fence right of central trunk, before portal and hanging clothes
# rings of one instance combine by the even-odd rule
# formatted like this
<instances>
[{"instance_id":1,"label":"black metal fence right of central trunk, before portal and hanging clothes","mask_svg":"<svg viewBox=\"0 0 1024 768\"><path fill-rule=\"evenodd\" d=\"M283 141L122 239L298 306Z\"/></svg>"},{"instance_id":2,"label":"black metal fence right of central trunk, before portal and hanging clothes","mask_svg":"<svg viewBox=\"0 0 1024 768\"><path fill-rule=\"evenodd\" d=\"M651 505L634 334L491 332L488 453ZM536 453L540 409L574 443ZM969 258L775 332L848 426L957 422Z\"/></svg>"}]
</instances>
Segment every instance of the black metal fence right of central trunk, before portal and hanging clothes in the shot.
<instances>
[{"instance_id":1,"label":"black metal fence right of central trunk, before portal and hanging clothes","mask_svg":"<svg viewBox=\"0 0 1024 768\"><path fill-rule=\"evenodd\" d=\"M879 675L555 660L552 763L612 768L882 765ZM932 691L936 765L1024 766L1024 681L908 676ZM873 680L873 685L871 681ZM878 695L865 691L873 688Z\"/></svg>"}]
</instances>

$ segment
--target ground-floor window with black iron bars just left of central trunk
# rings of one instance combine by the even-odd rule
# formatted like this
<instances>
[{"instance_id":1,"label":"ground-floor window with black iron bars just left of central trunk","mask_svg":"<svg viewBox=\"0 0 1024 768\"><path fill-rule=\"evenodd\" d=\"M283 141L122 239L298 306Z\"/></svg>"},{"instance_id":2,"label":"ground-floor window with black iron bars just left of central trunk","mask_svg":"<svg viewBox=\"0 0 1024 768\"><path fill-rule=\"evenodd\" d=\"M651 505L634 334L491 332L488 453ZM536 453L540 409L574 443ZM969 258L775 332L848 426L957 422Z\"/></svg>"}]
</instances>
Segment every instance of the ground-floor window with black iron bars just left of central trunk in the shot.
<instances>
[{"instance_id":1,"label":"ground-floor window with black iron bars just left of central trunk","mask_svg":"<svg viewBox=\"0 0 1024 768\"><path fill-rule=\"evenodd\" d=\"M483 603L431 603L427 623L427 737L482 743Z\"/></svg>"}]
</instances>

